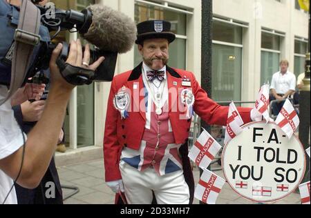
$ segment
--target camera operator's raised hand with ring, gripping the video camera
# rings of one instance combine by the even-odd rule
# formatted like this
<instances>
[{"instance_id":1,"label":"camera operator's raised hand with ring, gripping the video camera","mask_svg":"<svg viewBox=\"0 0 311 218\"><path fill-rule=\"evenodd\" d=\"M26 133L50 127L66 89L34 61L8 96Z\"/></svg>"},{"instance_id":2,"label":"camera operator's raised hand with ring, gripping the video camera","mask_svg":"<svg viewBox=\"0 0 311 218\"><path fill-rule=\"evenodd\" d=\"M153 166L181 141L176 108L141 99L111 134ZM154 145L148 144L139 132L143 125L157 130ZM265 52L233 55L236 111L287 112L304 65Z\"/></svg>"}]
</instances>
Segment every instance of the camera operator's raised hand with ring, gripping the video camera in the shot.
<instances>
[{"instance_id":1,"label":"camera operator's raised hand with ring, gripping the video camera","mask_svg":"<svg viewBox=\"0 0 311 218\"><path fill-rule=\"evenodd\" d=\"M61 73L59 72L59 68L56 64L57 57L59 56L61 51L62 51L62 44L58 44L55 50L53 50L53 54L50 59L51 83L52 86L72 90L75 86L66 82L66 80L62 77ZM70 50L66 63L69 63L70 65L79 68L96 70L96 68L100 66L102 61L104 61L104 57L100 57L100 59L95 61L90 66L88 66L89 61L90 61L90 47L86 45L83 54L81 41L79 39L77 39L77 41L72 41L70 43Z\"/></svg>"}]
</instances>

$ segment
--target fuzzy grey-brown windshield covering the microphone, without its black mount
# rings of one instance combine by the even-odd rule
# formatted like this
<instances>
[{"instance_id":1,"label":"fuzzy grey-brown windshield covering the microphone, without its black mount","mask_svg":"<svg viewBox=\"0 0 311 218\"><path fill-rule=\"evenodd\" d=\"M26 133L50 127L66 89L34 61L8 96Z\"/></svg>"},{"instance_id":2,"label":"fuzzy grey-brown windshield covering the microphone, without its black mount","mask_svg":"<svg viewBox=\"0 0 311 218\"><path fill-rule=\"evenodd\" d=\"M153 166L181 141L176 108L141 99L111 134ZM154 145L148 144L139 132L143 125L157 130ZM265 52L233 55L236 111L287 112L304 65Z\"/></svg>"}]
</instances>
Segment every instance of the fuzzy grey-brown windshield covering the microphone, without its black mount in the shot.
<instances>
[{"instance_id":1,"label":"fuzzy grey-brown windshield covering the microphone, without its black mount","mask_svg":"<svg viewBox=\"0 0 311 218\"><path fill-rule=\"evenodd\" d=\"M107 6L88 6L93 14L88 32L82 37L101 50L125 53L131 50L137 36L135 22L126 14Z\"/></svg>"}]
</instances>

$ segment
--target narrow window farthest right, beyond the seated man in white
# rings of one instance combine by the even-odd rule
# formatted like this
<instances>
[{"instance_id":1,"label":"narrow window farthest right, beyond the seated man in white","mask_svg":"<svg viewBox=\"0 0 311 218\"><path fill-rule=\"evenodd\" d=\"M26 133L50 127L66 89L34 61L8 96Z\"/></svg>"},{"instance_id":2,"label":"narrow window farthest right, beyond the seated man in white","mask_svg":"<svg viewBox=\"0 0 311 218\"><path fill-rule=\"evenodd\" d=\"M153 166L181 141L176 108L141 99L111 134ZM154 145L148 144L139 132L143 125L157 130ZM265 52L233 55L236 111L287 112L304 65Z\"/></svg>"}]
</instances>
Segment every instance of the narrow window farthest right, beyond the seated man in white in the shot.
<instances>
[{"instance_id":1,"label":"narrow window farthest right, beyond the seated man in white","mask_svg":"<svg viewBox=\"0 0 311 218\"><path fill-rule=\"evenodd\" d=\"M298 77L302 72L305 72L305 53L308 48L307 39L295 39L294 53L294 74Z\"/></svg>"}]
</instances>

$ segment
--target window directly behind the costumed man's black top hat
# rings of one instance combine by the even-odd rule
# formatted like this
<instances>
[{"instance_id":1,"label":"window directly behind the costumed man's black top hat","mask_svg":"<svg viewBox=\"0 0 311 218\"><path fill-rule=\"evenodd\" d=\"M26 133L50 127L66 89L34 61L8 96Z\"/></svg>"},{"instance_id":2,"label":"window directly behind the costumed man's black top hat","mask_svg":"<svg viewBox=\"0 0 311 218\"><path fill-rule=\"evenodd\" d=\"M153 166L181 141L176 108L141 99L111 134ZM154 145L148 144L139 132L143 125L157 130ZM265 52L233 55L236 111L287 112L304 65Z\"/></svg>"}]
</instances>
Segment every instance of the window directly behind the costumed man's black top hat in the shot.
<instances>
[{"instance_id":1,"label":"window directly behind the costumed man's black top hat","mask_svg":"<svg viewBox=\"0 0 311 218\"><path fill-rule=\"evenodd\" d=\"M186 69L187 46L187 14L167 10L156 4L135 3L135 22L164 19L171 22L171 31L176 34L176 39L169 46L169 66ZM142 57L135 48L134 66L142 61Z\"/></svg>"}]
</instances>

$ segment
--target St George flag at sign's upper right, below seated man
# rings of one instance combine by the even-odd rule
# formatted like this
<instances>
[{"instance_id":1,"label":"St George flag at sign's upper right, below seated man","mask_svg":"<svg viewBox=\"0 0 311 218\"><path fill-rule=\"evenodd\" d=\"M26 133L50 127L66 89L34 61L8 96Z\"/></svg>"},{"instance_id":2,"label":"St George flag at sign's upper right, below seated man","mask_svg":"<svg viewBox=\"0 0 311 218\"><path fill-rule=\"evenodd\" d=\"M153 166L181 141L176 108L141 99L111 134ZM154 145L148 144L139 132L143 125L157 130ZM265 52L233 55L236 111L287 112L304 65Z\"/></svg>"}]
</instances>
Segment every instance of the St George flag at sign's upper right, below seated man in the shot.
<instances>
[{"instance_id":1,"label":"St George flag at sign's upper right, below seated man","mask_svg":"<svg viewBox=\"0 0 311 218\"><path fill-rule=\"evenodd\" d=\"M290 139L299 126L299 117L290 100L286 99L275 122Z\"/></svg>"}]
</instances>

